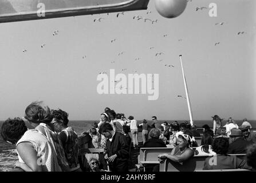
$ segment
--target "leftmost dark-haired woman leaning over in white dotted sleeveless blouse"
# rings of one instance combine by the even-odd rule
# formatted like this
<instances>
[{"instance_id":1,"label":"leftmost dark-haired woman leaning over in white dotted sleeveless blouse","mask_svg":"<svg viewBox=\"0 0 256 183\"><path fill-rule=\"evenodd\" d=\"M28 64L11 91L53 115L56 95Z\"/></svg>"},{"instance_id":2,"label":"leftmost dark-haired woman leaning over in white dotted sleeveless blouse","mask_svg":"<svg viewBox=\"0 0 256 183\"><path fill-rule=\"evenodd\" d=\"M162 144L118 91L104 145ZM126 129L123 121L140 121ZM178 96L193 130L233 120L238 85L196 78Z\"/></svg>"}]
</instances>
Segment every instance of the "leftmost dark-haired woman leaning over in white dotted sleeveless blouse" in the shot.
<instances>
[{"instance_id":1,"label":"leftmost dark-haired woman leaning over in white dotted sleeveless blouse","mask_svg":"<svg viewBox=\"0 0 256 183\"><path fill-rule=\"evenodd\" d=\"M19 161L15 166L18 168L26 172L61 171L52 143L38 129L28 130L21 118L6 120L1 128L1 136L3 140L16 145Z\"/></svg>"}]
</instances>

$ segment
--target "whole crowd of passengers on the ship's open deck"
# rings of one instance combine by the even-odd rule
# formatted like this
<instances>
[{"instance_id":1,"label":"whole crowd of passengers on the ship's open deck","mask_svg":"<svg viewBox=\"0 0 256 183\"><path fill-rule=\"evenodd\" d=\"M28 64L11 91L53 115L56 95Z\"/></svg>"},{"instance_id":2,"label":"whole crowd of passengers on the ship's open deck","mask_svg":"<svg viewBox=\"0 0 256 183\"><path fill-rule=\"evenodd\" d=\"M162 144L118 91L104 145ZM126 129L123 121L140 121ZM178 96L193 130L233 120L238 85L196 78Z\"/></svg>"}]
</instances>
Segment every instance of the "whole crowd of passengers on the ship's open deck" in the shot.
<instances>
[{"instance_id":1,"label":"whole crowd of passengers on the ship's open deck","mask_svg":"<svg viewBox=\"0 0 256 183\"><path fill-rule=\"evenodd\" d=\"M1 136L16 146L19 160L15 167L26 172L128 172L132 150L143 147L172 148L170 154L159 154L160 163L166 159L185 162L193 156L208 155L203 170L256 168L256 136L246 118L241 126L231 117L222 126L223 120L215 115L212 117L213 130L203 125L201 135L196 126L188 122L162 124L153 116L152 122L143 120L138 124L133 116L125 118L123 113L105 108L99 122L93 122L88 132L78 137L68 126L68 116L64 110L51 110L43 102L32 102L23 118L7 119L2 125ZM28 129L25 122L29 122L32 129ZM142 127L143 145L138 142L139 126ZM90 148L104 149L104 156L90 156L86 164L81 162L80 137L88 137ZM201 137L200 144L196 137ZM229 154L246 154L246 158ZM211 163L211 156L216 157L216 163ZM159 165L144 166L146 172L159 171Z\"/></svg>"}]
</instances>

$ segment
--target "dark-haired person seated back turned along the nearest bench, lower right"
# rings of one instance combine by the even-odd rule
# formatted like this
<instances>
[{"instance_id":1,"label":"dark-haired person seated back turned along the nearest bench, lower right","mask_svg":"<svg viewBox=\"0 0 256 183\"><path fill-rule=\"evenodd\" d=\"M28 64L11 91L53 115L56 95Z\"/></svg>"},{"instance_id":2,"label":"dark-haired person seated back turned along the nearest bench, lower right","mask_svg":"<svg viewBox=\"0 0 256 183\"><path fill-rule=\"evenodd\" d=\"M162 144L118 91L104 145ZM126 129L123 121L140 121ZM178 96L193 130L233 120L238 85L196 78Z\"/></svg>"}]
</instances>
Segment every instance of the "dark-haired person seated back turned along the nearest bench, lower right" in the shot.
<instances>
[{"instance_id":1,"label":"dark-haired person seated back turned along the nearest bench, lower right","mask_svg":"<svg viewBox=\"0 0 256 183\"><path fill-rule=\"evenodd\" d=\"M237 158L237 156L227 155L227 151L229 150L229 140L225 137L215 138L212 150L217 155L206 158L203 170L251 169L251 167L246 164L246 160L241 160L240 158Z\"/></svg>"}]
</instances>

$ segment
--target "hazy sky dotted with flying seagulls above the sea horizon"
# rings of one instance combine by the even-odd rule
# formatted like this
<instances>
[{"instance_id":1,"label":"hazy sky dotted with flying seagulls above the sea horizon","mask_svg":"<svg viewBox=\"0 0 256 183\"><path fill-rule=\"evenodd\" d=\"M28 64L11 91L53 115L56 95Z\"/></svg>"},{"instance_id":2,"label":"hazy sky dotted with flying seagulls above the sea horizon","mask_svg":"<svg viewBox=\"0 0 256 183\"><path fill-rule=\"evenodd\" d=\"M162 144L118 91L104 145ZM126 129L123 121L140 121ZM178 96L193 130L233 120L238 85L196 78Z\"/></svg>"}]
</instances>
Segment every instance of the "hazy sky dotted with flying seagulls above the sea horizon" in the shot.
<instances>
[{"instance_id":1,"label":"hazy sky dotted with flying seagulls above the sea horizon","mask_svg":"<svg viewBox=\"0 0 256 183\"><path fill-rule=\"evenodd\" d=\"M216 3L217 17L208 15L209 8L196 11L210 3ZM214 114L255 120L255 5L254 0L192 0L179 17L164 18L151 0L147 10L119 17L0 23L0 120L22 117L33 101L65 110L69 120L99 119L106 106L137 120L188 120L187 102L178 97L186 96L180 54L193 120L211 120ZM135 15L157 22L137 21ZM215 25L220 22L225 23ZM110 69L127 77L135 71L159 74L159 97L99 94L97 75L109 75Z\"/></svg>"}]
</instances>

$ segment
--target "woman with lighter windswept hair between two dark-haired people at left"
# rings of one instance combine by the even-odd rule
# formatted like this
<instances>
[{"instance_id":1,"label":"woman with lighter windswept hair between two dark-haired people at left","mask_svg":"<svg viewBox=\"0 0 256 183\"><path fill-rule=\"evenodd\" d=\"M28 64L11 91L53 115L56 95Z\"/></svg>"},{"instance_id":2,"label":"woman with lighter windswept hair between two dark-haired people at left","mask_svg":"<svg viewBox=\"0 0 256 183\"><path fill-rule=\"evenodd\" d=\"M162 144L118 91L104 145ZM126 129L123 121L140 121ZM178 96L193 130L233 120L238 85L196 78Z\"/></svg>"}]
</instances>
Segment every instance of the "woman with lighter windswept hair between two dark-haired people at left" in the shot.
<instances>
[{"instance_id":1,"label":"woman with lighter windswept hair between two dark-haired people at left","mask_svg":"<svg viewBox=\"0 0 256 183\"><path fill-rule=\"evenodd\" d=\"M53 115L50 108L48 106L44 106L42 101L32 102L25 110L25 119L28 120L31 126L41 133L42 136L46 137L52 144L54 152L57 154L58 164L61 166L61 169L63 171L69 171L69 164L66 160L63 146L58 134L54 132L54 125L51 123L53 120ZM23 139L23 137L21 138L21 144L23 144L27 138L30 138L27 137ZM32 137L30 141L33 140L34 139Z\"/></svg>"}]
</instances>

